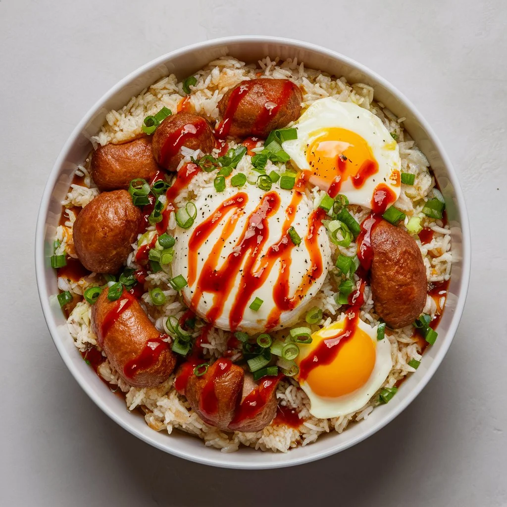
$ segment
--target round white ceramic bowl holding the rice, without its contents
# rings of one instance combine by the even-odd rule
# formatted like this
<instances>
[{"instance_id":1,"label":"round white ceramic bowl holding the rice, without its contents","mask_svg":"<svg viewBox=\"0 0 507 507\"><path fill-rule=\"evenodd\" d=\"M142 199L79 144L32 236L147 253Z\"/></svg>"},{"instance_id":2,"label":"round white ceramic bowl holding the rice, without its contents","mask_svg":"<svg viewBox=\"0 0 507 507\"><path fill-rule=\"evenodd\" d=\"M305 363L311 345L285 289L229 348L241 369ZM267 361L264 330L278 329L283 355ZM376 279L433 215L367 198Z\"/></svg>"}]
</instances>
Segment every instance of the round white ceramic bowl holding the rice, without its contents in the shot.
<instances>
[{"instance_id":1,"label":"round white ceramic bowl holding the rice, without its contents","mask_svg":"<svg viewBox=\"0 0 507 507\"><path fill-rule=\"evenodd\" d=\"M297 57L307 67L345 76L350 83L372 85L377 100L382 101L398 117L406 117L406 129L431 163L447 203L452 247L454 256L458 259L452 267L449 296L438 328L439 338L436 344L427 349L420 367L404 382L396 396L387 405L377 407L368 419L351 425L342 434L325 434L316 443L293 449L286 454L263 453L250 448L225 454L206 447L201 440L179 431L174 431L171 435L165 431L156 432L147 426L142 417L125 410L125 402L104 386L74 346L56 301L57 278L49 263L60 216L60 202L67 192L77 164L89 153L89 139L104 122L106 113L122 107L130 97L163 76L174 73L178 79L185 78L223 55L232 55L246 62L257 61L266 55L282 59ZM35 237L35 270L42 308L56 348L67 368L103 412L136 437L182 458L231 468L274 468L316 460L357 444L382 428L414 400L440 365L458 327L468 287L470 233L463 195L451 163L432 130L399 91L363 65L324 48L273 37L234 37L196 44L157 58L120 81L91 108L70 135L49 175Z\"/></svg>"}]
</instances>

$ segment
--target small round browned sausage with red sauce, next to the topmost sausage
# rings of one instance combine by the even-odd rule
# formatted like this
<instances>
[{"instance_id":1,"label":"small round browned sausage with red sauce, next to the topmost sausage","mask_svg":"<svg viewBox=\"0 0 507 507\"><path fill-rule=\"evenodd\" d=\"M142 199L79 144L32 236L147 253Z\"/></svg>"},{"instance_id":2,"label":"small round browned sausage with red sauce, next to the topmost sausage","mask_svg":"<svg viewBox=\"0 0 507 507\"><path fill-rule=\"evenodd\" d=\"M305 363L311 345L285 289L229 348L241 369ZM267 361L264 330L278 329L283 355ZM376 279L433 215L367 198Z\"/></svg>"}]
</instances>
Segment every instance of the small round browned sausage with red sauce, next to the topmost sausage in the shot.
<instances>
[{"instance_id":1,"label":"small round browned sausage with red sauce, next to the topmost sausage","mask_svg":"<svg viewBox=\"0 0 507 507\"><path fill-rule=\"evenodd\" d=\"M153 134L153 156L165 169L175 171L183 159L180 148L211 153L215 138L208 122L197 115L182 111L168 116Z\"/></svg>"}]
</instances>

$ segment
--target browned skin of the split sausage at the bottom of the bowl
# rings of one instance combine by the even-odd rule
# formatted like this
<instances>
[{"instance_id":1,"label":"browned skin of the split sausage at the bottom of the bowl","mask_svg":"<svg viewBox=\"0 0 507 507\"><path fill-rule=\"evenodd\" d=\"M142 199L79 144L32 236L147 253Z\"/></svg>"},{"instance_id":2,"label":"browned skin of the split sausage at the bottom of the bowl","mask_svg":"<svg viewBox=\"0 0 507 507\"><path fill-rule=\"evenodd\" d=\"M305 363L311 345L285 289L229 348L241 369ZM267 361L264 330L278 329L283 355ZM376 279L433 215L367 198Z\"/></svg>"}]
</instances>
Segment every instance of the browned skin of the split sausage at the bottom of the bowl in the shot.
<instances>
[{"instance_id":1,"label":"browned skin of the split sausage at the bottom of the bowl","mask_svg":"<svg viewBox=\"0 0 507 507\"><path fill-rule=\"evenodd\" d=\"M230 369L224 375L217 374L217 368L221 363L229 361ZM261 380L262 382L262 380ZM267 402L252 417L241 418L236 421L238 413L241 413L245 398L259 386L253 381L251 374L243 371L237 365L231 364L229 359L218 359L208 371L201 377L191 374L185 389L185 395L190 406L203 421L216 426L223 431L260 431L266 427L276 415L276 385L275 379ZM212 386L216 396L217 410L210 414L205 411L206 403L203 399L209 397L206 392L208 386Z\"/></svg>"}]
</instances>

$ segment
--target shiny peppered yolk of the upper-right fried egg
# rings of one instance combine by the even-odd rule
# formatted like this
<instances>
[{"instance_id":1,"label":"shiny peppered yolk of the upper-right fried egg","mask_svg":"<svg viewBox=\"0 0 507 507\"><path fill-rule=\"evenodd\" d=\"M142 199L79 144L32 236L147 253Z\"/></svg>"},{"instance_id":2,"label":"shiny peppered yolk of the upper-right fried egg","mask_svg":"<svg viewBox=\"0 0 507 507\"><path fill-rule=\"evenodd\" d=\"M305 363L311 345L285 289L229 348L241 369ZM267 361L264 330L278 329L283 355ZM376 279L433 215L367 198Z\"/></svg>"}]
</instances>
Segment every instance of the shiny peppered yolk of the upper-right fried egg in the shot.
<instances>
[{"instance_id":1,"label":"shiny peppered yolk of the upper-right fried egg","mask_svg":"<svg viewBox=\"0 0 507 507\"><path fill-rule=\"evenodd\" d=\"M360 135L344 128L324 128L314 132L306 150L313 175L331 185L339 176L343 183L351 178L356 188L378 172L378 164L368 143Z\"/></svg>"}]
</instances>

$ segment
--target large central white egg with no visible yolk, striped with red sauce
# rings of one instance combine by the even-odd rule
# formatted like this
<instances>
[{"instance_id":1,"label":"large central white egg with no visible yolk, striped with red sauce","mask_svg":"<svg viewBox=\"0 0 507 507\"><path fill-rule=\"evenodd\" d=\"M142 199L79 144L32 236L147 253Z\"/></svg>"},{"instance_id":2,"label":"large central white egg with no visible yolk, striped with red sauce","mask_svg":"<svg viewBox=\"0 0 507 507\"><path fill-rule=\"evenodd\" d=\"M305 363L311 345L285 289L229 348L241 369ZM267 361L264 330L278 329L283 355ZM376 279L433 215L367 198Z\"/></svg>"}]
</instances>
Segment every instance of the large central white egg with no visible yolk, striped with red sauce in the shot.
<instances>
[{"instance_id":1,"label":"large central white egg with no visible yolk, striped with red sauce","mask_svg":"<svg viewBox=\"0 0 507 507\"><path fill-rule=\"evenodd\" d=\"M311 200L247 184L205 188L194 202L197 216L189 229L178 229L172 262L173 276L188 281L187 306L218 328L248 334L297 321L331 262Z\"/></svg>"}]
</instances>

